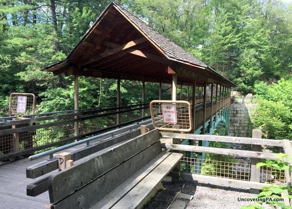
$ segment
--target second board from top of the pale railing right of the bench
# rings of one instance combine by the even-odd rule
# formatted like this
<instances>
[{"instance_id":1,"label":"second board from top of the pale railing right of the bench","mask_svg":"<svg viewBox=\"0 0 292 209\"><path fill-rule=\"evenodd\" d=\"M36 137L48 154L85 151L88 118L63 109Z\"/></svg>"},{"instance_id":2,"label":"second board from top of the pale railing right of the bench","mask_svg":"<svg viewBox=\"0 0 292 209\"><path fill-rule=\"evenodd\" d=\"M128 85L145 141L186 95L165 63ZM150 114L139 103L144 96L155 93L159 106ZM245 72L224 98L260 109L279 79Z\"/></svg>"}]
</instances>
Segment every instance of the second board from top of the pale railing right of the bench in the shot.
<instances>
[{"instance_id":1,"label":"second board from top of the pale railing right of the bench","mask_svg":"<svg viewBox=\"0 0 292 209\"><path fill-rule=\"evenodd\" d=\"M214 148L214 147L200 147L200 146L181 145L181 144L161 144L161 146L162 148L166 148L169 150L223 154L223 155L242 156L242 157L254 157L254 158L261 158L261 159L262 158L276 159L275 153L268 153L268 152L233 150L233 149Z\"/></svg>"}]
</instances>

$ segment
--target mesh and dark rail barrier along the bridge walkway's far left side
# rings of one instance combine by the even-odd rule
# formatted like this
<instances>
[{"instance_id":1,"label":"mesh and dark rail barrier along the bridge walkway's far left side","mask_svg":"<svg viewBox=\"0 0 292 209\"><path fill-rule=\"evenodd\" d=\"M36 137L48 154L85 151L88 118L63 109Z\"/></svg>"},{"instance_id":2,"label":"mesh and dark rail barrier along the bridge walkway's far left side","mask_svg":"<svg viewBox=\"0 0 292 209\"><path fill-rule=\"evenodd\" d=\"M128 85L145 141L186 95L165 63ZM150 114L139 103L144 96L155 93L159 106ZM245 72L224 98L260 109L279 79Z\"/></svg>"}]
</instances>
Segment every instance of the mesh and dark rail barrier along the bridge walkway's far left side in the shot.
<instances>
[{"instance_id":1,"label":"mesh and dark rail barrier along the bridge walkway's far left side","mask_svg":"<svg viewBox=\"0 0 292 209\"><path fill-rule=\"evenodd\" d=\"M26 151L25 153L30 155L75 140L75 122L78 123L79 135L90 135L91 132L138 120L142 118L142 110L144 116L150 115L148 105L135 104L119 108L60 111L23 115L21 118L4 118L0 121L0 160L10 159L5 156L15 152L20 151L23 154L23 151ZM30 150L33 151L29 152Z\"/></svg>"}]
</instances>

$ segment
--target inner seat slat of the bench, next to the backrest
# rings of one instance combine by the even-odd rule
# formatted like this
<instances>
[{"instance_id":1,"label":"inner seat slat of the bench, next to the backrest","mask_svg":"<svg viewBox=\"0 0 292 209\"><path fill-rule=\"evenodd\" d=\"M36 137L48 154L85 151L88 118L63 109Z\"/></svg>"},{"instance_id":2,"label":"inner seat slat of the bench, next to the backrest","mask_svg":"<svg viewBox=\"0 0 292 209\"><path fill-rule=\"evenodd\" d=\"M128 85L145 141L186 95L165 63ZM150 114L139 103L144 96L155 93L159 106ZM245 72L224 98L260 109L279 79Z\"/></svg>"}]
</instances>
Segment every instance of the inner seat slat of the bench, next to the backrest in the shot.
<instances>
[{"instance_id":1,"label":"inner seat slat of the bench, next to the backrest","mask_svg":"<svg viewBox=\"0 0 292 209\"><path fill-rule=\"evenodd\" d=\"M98 201L91 209L109 209L115 203L117 203L123 196L125 196L128 191L135 187L141 180L143 180L153 169L155 169L160 163L168 157L171 152L162 152L149 163L147 163L142 169L137 171L126 181L124 181L117 188L112 190L104 198Z\"/></svg>"}]
</instances>

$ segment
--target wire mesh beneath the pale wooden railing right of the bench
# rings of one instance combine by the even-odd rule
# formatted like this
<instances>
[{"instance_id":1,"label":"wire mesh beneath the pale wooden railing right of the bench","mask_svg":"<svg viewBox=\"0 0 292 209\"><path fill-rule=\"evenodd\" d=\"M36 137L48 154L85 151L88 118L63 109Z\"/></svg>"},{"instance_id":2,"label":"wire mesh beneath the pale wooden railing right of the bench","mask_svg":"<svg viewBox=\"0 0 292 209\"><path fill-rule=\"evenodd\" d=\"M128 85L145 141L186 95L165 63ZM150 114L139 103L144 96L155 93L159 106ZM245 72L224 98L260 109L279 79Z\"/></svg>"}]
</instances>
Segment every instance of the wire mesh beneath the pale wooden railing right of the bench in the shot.
<instances>
[{"instance_id":1,"label":"wire mesh beneath the pale wooden railing right of the bench","mask_svg":"<svg viewBox=\"0 0 292 209\"><path fill-rule=\"evenodd\" d=\"M209 176L250 181L251 162L249 158L235 159L227 155L199 155L185 152L181 160L181 171ZM260 168L260 182L285 184L284 171L272 167Z\"/></svg>"}]
</instances>

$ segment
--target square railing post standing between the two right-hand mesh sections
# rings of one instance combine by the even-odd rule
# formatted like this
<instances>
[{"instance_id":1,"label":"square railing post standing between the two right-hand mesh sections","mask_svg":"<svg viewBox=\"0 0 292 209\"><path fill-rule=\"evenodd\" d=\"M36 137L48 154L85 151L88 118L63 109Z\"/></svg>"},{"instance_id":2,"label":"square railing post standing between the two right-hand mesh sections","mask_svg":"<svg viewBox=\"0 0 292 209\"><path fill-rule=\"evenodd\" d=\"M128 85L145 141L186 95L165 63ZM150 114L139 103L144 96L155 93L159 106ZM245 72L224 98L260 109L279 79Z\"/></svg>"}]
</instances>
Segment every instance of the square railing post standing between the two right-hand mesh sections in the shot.
<instances>
[{"instance_id":1,"label":"square railing post standing between the two right-hand mesh sections","mask_svg":"<svg viewBox=\"0 0 292 209\"><path fill-rule=\"evenodd\" d=\"M253 130L253 138L261 138L261 130L254 129ZM261 146L260 145L252 145L252 151L260 152ZM258 163L260 159L258 158L252 158L251 162L251 179L250 181L259 182L260 177L260 168L256 168L256 163ZM259 190L250 190L252 193L258 193Z\"/></svg>"}]
</instances>

